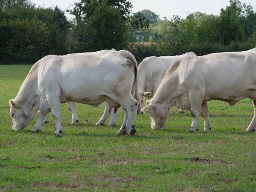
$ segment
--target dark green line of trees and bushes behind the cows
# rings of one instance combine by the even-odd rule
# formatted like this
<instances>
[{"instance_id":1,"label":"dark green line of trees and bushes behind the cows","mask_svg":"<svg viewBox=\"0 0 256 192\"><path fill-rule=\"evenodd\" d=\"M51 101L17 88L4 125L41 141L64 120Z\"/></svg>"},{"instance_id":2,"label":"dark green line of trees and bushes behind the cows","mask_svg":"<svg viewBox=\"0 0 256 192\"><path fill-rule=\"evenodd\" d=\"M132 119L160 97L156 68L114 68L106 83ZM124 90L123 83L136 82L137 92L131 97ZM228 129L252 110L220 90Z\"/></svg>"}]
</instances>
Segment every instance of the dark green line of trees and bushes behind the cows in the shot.
<instances>
[{"instance_id":1,"label":"dark green line of trees and bushes behind the cows","mask_svg":"<svg viewBox=\"0 0 256 192\"><path fill-rule=\"evenodd\" d=\"M142 61L152 55L256 47L256 12L239 0L230 0L220 15L195 12L163 20L149 10L132 13L132 8L130 0L80 0L68 10L35 7L29 0L0 0L0 64L112 48L128 49ZM137 44L137 35L144 35L145 41L152 36L154 43Z\"/></svg>"}]
</instances>

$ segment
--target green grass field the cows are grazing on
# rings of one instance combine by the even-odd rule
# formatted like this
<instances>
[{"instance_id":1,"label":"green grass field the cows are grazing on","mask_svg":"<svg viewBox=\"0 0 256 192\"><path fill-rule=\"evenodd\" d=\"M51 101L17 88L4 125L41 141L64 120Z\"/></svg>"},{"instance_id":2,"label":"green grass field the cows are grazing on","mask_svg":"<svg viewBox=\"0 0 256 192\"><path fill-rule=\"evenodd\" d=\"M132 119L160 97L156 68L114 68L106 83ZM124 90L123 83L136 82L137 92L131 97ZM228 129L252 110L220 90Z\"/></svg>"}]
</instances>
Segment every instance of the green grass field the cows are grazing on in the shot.
<instances>
[{"instance_id":1,"label":"green grass field the cows are grazing on","mask_svg":"<svg viewBox=\"0 0 256 192\"><path fill-rule=\"evenodd\" d=\"M234 107L211 101L212 131L189 133L190 112L172 108L163 130L151 130L148 115L137 116L137 133L117 136L117 125L96 126L104 111L77 105L79 124L62 105L62 137L55 123L31 134L12 130L9 99L14 99L31 65L0 65L0 191L256 191L256 132L245 133L253 105L245 99ZM110 119L108 119L109 122Z\"/></svg>"}]
</instances>

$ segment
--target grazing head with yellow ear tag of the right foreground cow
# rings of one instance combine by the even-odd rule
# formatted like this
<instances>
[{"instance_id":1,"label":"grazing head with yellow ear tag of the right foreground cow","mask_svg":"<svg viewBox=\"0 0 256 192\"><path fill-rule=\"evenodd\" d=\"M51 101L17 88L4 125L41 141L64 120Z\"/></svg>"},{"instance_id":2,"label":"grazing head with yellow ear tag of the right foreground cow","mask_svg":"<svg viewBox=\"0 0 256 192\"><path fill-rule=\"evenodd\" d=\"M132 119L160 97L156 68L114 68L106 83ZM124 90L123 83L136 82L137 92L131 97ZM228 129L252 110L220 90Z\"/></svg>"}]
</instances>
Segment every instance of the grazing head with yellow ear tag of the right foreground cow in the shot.
<instances>
[{"instance_id":1,"label":"grazing head with yellow ear tag of the right foreground cow","mask_svg":"<svg viewBox=\"0 0 256 192\"><path fill-rule=\"evenodd\" d=\"M169 116L170 105L166 103L159 104L154 103L151 100L146 102L146 107L142 111L148 113L151 119L152 129L161 129L165 124Z\"/></svg>"}]
</instances>

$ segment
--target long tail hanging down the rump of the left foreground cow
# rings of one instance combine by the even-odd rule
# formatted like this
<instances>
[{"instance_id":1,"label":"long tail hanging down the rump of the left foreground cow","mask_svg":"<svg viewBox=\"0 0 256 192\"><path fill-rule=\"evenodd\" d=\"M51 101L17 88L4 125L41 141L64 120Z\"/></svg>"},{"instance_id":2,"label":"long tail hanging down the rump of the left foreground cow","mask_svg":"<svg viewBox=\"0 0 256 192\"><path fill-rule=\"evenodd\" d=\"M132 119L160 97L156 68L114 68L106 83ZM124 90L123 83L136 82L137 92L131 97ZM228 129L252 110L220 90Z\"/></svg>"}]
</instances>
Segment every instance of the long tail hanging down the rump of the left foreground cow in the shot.
<instances>
[{"instance_id":1,"label":"long tail hanging down the rump of the left foreground cow","mask_svg":"<svg viewBox=\"0 0 256 192\"><path fill-rule=\"evenodd\" d=\"M134 55L131 54L131 52L125 51L125 53L126 53L125 58L130 59L131 61L134 62L134 82L131 89L132 91L131 94L133 95L134 99L138 101L137 115L139 115L141 111L141 105L140 105L139 86L138 86L138 65Z\"/></svg>"}]
</instances>

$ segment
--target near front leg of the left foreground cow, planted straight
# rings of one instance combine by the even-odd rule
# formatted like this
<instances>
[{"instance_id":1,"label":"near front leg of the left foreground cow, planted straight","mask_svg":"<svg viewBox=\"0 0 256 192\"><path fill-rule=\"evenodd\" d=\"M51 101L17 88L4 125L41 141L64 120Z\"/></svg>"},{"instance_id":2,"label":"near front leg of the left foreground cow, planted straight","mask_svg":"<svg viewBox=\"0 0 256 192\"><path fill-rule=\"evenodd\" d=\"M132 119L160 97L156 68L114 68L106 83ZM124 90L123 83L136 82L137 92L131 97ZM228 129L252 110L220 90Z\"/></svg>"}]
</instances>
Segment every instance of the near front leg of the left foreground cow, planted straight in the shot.
<instances>
[{"instance_id":1,"label":"near front leg of the left foreground cow, planted straight","mask_svg":"<svg viewBox=\"0 0 256 192\"><path fill-rule=\"evenodd\" d=\"M52 111L52 116L55 119L55 135L59 135L62 133L62 126L61 126L61 102L60 97L58 95L47 95L47 102Z\"/></svg>"}]
</instances>

